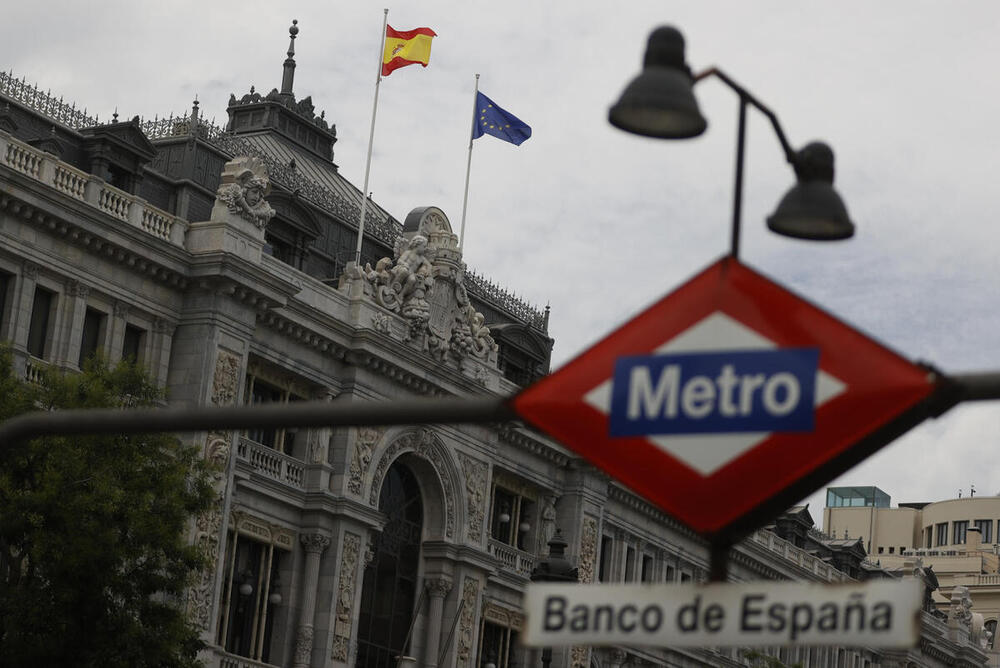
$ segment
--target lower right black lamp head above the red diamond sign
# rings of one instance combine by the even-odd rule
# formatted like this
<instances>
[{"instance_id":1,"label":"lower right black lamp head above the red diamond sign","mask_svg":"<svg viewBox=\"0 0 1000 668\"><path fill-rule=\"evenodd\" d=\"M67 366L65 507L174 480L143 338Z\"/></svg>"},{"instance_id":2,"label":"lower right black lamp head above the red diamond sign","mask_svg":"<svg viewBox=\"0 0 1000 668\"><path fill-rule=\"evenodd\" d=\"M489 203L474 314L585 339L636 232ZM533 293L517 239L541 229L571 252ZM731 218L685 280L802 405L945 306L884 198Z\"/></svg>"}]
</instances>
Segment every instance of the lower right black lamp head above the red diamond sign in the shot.
<instances>
[{"instance_id":1,"label":"lower right black lamp head above the red diamond sign","mask_svg":"<svg viewBox=\"0 0 1000 668\"><path fill-rule=\"evenodd\" d=\"M833 189L833 149L813 142L795 155L798 183L767 219L772 232L796 239L836 241L854 236L844 200Z\"/></svg>"}]
</instances>

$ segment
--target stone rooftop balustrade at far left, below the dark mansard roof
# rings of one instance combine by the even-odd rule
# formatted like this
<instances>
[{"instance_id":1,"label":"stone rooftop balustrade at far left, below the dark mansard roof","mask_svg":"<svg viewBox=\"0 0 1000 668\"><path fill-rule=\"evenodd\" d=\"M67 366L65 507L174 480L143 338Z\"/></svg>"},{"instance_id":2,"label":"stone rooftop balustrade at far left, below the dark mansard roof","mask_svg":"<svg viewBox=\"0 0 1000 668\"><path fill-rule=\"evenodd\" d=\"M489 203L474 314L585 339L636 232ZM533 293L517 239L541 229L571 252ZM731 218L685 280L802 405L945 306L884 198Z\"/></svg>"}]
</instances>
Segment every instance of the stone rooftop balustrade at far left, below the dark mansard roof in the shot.
<instances>
[{"instance_id":1,"label":"stone rooftop balustrade at far left, below the dark mansard roof","mask_svg":"<svg viewBox=\"0 0 1000 668\"><path fill-rule=\"evenodd\" d=\"M54 155L40 151L0 131L2 164L73 199L85 202L123 223L175 246L184 245L187 221L150 206L145 200L108 185Z\"/></svg>"}]
</instances>

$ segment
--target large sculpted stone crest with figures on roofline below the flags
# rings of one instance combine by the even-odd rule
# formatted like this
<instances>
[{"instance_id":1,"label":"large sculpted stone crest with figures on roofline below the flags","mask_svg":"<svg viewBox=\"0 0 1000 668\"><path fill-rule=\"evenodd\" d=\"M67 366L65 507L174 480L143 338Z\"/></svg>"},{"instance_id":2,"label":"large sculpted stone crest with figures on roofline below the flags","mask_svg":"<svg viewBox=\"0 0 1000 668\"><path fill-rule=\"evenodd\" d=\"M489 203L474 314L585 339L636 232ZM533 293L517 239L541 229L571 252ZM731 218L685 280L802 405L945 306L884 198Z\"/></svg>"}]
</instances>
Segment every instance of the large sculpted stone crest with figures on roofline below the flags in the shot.
<instances>
[{"instance_id":1,"label":"large sculpted stone crest with figures on roofline below the flags","mask_svg":"<svg viewBox=\"0 0 1000 668\"><path fill-rule=\"evenodd\" d=\"M401 315L408 325L405 340L437 359L461 363L473 357L495 364L499 348L486 318L469 301L457 241L440 209L418 209L407 217L393 257L374 267L351 265L344 278ZM387 331L386 324L373 319L380 331Z\"/></svg>"}]
</instances>

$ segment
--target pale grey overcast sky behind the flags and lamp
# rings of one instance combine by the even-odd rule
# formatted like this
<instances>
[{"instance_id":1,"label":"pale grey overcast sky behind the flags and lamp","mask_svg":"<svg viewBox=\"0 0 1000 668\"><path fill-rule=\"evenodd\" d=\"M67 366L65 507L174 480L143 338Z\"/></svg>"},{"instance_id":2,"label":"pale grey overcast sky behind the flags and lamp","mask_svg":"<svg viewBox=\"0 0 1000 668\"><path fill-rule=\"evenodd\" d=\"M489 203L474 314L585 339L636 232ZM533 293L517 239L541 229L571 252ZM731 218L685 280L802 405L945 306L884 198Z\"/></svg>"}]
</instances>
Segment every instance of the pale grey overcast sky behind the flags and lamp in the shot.
<instances>
[{"instance_id":1,"label":"pale grey overcast sky behind the flags and lamp","mask_svg":"<svg viewBox=\"0 0 1000 668\"><path fill-rule=\"evenodd\" d=\"M280 86L298 19L295 92L337 126L335 161L359 187L383 14L371 2L12 3L0 67L91 115L184 113L197 95L225 122L230 93ZM835 244L770 234L794 182L751 111L742 259L912 360L1000 370L1000 3L953 0L611 3L425 0L390 7L398 30L434 29L430 66L381 86L370 187L397 219L442 208L457 231L474 75L529 123L515 147L472 157L465 259L536 306L551 304L556 366L728 250L736 97L696 91L709 130L665 142L625 134L607 109L673 24L695 71L725 70L780 117L795 146L829 142L857 224ZM893 502L1000 492L1000 403L927 423L834 484ZM809 497L817 523L823 497Z\"/></svg>"}]
</instances>

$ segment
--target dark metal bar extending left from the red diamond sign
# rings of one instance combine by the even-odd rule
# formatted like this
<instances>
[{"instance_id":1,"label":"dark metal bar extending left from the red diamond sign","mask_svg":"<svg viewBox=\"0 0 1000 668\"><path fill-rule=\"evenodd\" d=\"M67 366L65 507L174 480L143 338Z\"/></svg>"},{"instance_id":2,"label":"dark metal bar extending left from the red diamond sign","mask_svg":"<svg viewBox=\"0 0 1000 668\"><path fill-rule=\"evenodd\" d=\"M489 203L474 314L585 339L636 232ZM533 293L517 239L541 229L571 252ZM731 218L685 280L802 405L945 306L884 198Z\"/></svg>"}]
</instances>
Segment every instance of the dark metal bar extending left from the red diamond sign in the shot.
<instances>
[{"instance_id":1,"label":"dark metal bar extending left from the red diamond sign","mask_svg":"<svg viewBox=\"0 0 1000 668\"><path fill-rule=\"evenodd\" d=\"M192 432L209 429L347 427L506 422L506 398L405 399L338 403L301 401L239 407L39 411L0 424L0 447L20 439L73 434Z\"/></svg>"}]
</instances>

